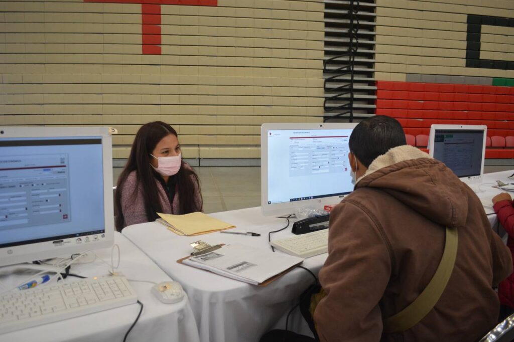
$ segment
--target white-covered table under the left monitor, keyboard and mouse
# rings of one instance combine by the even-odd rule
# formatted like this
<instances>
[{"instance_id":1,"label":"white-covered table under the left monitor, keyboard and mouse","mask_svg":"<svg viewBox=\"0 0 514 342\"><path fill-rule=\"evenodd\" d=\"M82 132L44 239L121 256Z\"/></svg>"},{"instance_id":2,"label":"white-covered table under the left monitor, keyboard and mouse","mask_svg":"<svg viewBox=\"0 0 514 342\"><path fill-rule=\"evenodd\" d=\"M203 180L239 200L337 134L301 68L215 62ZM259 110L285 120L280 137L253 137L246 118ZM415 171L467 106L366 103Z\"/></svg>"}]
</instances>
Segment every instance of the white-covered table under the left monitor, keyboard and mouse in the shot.
<instances>
[{"instance_id":1,"label":"white-covered table under the left monitor, keyboard and mouse","mask_svg":"<svg viewBox=\"0 0 514 342\"><path fill-rule=\"evenodd\" d=\"M120 246L121 261L118 271L128 279L143 279L155 282L170 280L155 263L144 255L136 246L120 233L115 233L115 242ZM105 261L111 262L111 249L102 249L96 253ZM116 262L116 261L115 261ZM93 263L73 264L71 273L86 277L102 276L108 273L109 267L100 260ZM34 272L30 270L16 275L4 275L0 269L0 279L4 284L15 286ZM78 278L68 277L65 281L76 281ZM175 304L164 304L150 292L151 283L130 282L136 290L144 309L127 337L127 341L170 341L198 342L198 330L187 296ZM122 341L128 328L139 313L138 303L111 309L103 312L62 320L38 327L15 331L0 335L1 342L31 341Z\"/></svg>"}]
</instances>

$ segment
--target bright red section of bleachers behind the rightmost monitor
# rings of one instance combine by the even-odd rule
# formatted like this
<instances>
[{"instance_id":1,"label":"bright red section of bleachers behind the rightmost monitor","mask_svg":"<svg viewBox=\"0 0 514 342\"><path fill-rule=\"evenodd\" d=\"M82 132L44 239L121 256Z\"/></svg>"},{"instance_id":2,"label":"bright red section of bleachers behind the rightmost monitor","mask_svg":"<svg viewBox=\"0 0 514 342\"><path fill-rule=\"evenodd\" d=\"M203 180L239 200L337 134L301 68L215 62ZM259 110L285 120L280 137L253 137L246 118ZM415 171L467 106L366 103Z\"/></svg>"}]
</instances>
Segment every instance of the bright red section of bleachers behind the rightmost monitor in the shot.
<instances>
[{"instance_id":1,"label":"bright red section of bleachers behind the rightmost monitor","mask_svg":"<svg viewBox=\"0 0 514 342\"><path fill-rule=\"evenodd\" d=\"M396 118L409 144L426 148L433 124L486 125L486 158L514 158L514 87L395 81L376 84L376 113Z\"/></svg>"}]
</instances>

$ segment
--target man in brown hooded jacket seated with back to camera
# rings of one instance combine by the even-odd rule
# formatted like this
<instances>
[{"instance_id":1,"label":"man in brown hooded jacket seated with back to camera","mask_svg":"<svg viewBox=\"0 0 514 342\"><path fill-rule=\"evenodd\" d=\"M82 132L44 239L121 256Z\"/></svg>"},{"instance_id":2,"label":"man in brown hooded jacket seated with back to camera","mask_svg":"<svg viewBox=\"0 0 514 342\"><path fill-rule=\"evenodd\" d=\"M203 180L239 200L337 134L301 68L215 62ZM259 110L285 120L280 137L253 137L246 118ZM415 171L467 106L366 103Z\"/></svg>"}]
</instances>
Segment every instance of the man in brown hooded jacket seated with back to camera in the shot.
<instances>
[{"instance_id":1,"label":"man in brown hooded jacket seated with back to camera","mask_svg":"<svg viewBox=\"0 0 514 342\"><path fill-rule=\"evenodd\" d=\"M512 272L473 191L443 163L406 145L395 119L359 123L348 155L355 191L331 213L326 296L314 321L322 342L480 339L497 322L492 289ZM453 272L435 307L412 328L384 333L383 319L410 305L432 279L456 229Z\"/></svg>"}]
</instances>

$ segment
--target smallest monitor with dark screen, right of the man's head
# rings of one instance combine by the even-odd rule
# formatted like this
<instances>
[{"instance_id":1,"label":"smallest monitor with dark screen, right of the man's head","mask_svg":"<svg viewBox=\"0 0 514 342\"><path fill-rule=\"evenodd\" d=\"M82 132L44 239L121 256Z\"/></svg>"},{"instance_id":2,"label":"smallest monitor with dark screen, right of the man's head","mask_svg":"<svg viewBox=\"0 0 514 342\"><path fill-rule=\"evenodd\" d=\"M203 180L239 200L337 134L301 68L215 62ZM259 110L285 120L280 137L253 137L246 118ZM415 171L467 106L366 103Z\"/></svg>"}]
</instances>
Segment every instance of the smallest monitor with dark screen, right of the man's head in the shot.
<instances>
[{"instance_id":1,"label":"smallest monitor with dark screen, right of the man's head","mask_svg":"<svg viewBox=\"0 0 514 342\"><path fill-rule=\"evenodd\" d=\"M432 125L430 156L446 164L458 178L478 181L484 174L487 126Z\"/></svg>"}]
</instances>

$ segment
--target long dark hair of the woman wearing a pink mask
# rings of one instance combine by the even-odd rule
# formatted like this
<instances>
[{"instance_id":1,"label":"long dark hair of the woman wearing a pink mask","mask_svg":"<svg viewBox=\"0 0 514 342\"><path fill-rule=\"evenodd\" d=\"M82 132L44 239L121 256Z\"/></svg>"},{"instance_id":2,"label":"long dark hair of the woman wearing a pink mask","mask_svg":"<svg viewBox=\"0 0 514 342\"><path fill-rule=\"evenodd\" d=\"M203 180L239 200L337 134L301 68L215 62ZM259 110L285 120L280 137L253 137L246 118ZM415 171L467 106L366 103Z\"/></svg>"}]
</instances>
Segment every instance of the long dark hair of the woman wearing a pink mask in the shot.
<instances>
[{"instance_id":1,"label":"long dark hair of the woman wearing a pink mask","mask_svg":"<svg viewBox=\"0 0 514 342\"><path fill-rule=\"evenodd\" d=\"M121 192L128 175L133 171L136 171L137 184L134 193L130 194L130 196L136 196L138 186L141 184L144 196L144 210L148 221L154 221L158 217L156 213L162 213L162 206L159 202L159 191L155 182L155 171L150 165L150 154L159 141L169 134L178 137L177 131L162 121L149 122L141 126L137 131L130 156L128 156L125 168L118 178L116 188L114 205L117 213L115 223L118 231L121 231L125 226L125 218L121 210ZM201 211L201 203L197 205L195 202L195 185L197 185L199 189L200 180L194 170L184 167L184 162L182 161L180 170L175 177L177 184L176 193L180 194L180 214ZM196 182L196 184L194 184L194 182ZM170 204L173 206L173 203Z\"/></svg>"}]
</instances>

